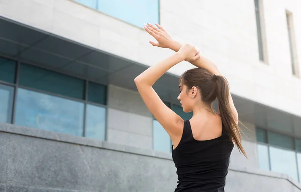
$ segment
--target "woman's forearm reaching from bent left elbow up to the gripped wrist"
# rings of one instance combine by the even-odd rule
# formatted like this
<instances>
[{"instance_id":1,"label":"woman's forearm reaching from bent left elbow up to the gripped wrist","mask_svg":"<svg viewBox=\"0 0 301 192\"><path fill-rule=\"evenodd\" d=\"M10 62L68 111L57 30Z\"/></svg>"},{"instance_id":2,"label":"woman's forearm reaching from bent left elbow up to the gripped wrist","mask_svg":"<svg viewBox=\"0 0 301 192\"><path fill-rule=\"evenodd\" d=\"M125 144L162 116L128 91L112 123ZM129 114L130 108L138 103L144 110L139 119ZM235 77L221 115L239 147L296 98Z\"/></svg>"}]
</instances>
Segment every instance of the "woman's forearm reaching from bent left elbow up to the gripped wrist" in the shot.
<instances>
[{"instance_id":1,"label":"woman's forearm reaching from bent left elbow up to the gripped wrist","mask_svg":"<svg viewBox=\"0 0 301 192\"><path fill-rule=\"evenodd\" d=\"M179 48L180 49L180 48ZM157 63L156 65L149 67L143 73L135 78L136 84L143 84L146 86L153 86L153 84L170 68L172 68L177 63L183 61L184 58L181 54L176 52L172 56L164 59L163 61Z\"/></svg>"}]
</instances>

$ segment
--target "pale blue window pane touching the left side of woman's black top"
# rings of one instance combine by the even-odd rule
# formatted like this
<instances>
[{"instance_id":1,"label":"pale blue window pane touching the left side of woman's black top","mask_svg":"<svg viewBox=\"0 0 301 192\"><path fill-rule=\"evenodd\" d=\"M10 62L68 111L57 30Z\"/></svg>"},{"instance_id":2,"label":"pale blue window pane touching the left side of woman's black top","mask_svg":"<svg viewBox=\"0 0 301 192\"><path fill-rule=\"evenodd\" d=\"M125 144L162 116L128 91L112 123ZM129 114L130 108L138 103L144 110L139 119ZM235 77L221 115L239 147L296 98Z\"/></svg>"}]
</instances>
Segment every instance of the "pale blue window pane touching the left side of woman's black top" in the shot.
<instances>
[{"instance_id":1,"label":"pale blue window pane touching the left side of woman's black top","mask_svg":"<svg viewBox=\"0 0 301 192\"><path fill-rule=\"evenodd\" d=\"M153 148L156 151L171 152L171 139L157 120L153 120Z\"/></svg>"}]
</instances>

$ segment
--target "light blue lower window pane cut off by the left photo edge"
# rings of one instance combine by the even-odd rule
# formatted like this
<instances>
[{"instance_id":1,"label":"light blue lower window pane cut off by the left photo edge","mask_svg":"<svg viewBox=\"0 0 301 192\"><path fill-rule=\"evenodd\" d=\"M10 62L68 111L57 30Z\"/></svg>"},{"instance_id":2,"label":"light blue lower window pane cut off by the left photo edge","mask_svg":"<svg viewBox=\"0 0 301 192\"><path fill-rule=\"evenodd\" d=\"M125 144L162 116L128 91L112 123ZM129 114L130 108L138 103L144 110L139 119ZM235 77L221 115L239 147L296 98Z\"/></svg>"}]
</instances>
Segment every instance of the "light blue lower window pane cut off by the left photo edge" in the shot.
<instances>
[{"instance_id":1,"label":"light blue lower window pane cut off by the left photo edge","mask_svg":"<svg viewBox=\"0 0 301 192\"><path fill-rule=\"evenodd\" d=\"M0 84L0 122L11 123L14 88Z\"/></svg>"}]
</instances>

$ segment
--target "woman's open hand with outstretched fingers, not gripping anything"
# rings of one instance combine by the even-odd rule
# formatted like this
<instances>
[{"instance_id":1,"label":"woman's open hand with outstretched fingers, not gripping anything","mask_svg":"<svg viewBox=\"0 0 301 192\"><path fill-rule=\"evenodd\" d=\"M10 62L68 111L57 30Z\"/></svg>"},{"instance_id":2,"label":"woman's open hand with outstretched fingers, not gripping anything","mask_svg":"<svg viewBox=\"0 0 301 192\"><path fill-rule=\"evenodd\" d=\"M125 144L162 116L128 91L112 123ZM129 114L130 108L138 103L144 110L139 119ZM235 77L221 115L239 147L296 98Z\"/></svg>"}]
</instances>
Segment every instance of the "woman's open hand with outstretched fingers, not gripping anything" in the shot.
<instances>
[{"instance_id":1,"label":"woman's open hand with outstretched fingers, not gripping anything","mask_svg":"<svg viewBox=\"0 0 301 192\"><path fill-rule=\"evenodd\" d=\"M144 24L145 30L157 40L157 43L152 41L149 43L153 46L171 49L174 43L173 38L162 26L157 23L155 25L159 29L150 23Z\"/></svg>"}]
</instances>

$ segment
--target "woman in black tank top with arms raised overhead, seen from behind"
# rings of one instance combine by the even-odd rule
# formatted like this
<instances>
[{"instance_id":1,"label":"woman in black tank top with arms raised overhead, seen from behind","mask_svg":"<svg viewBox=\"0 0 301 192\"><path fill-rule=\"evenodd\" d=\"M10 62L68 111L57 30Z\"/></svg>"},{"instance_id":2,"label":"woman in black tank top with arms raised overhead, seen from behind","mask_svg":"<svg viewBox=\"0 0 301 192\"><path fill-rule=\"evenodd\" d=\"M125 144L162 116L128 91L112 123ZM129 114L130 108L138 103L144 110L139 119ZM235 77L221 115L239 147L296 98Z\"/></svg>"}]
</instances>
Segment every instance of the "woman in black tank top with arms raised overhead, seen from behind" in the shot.
<instances>
[{"instance_id":1,"label":"woman in black tank top with arms raised overhead, seen from behind","mask_svg":"<svg viewBox=\"0 0 301 192\"><path fill-rule=\"evenodd\" d=\"M156 26L159 29L149 23L144 26L158 41L150 43L176 53L145 70L135 78L135 83L149 111L172 140L172 157L178 174L175 191L224 191L234 144L246 156L227 80L195 47L182 46L162 26ZM178 100L184 112L193 113L186 121L169 109L152 88L166 71L184 60L198 67L185 71L179 81ZM212 107L215 99L219 106L217 113Z\"/></svg>"}]
</instances>

